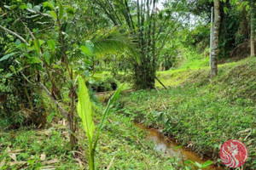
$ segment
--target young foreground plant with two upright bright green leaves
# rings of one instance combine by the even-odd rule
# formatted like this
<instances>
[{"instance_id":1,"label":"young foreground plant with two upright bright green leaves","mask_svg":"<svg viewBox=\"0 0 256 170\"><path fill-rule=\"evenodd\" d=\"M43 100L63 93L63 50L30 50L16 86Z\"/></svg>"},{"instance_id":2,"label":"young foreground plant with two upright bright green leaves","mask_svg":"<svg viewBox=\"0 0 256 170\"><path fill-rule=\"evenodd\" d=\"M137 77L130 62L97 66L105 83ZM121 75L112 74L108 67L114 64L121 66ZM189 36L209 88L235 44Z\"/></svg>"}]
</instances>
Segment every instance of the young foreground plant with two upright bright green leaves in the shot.
<instances>
[{"instance_id":1,"label":"young foreground plant with two upright bright green leaves","mask_svg":"<svg viewBox=\"0 0 256 170\"><path fill-rule=\"evenodd\" d=\"M82 120L82 126L84 128L84 132L88 139L88 150L85 150L85 155L89 161L90 170L95 169L95 152L96 152L96 145L102 132L102 128L105 125L105 122L110 114L113 102L119 97L119 93L123 85L113 94L113 96L108 100L108 105L106 109L103 111L102 114L102 121L100 122L99 126L97 127L97 131L95 133L95 124L93 122L93 112L90 103L90 96L88 93L88 89L85 86L84 79L79 77L79 102L78 102L78 113L79 117Z\"/></svg>"}]
</instances>

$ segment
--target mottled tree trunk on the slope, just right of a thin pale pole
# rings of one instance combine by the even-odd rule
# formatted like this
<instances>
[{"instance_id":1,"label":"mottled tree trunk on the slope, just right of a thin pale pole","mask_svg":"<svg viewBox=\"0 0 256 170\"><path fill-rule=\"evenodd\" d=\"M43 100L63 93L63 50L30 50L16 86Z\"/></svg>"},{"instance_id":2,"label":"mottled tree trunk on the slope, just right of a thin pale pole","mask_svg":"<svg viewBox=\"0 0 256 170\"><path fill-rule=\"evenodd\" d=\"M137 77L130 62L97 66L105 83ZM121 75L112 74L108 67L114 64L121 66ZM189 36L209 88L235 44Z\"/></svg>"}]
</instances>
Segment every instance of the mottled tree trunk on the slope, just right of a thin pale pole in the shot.
<instances>
[{"instance_id":1,"label":"mottled tree trunk on the slope, just right of a thin pale pole","mask_svg":"<svg viewBox=\"0 0 256 170\"><path fill-rule=\"evenodd\" d=\"M214 23L213 23L213 40L212 40L212 62L211 62L211 78L216 77L218 73L218 33L220 26L219 0L214 0Z\"/></svg>"}]
</instances>

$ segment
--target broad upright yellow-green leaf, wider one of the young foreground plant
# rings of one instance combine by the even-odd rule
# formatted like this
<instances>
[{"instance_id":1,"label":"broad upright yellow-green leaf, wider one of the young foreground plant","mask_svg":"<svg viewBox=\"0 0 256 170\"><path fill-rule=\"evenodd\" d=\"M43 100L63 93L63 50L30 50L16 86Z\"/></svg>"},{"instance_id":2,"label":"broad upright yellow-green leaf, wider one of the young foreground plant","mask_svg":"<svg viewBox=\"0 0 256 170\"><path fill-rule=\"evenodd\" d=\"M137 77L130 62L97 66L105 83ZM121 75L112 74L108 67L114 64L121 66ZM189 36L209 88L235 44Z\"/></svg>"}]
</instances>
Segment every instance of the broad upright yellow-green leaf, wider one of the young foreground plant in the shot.
<instances>
[{"instance_id":1,"label":"broad upright yellow-green leaf, wider one of the young foreground plant","mask_svg":"<svg viewBox=\"0 0 256 170\"><path fill-rule=\"evenodd\" d=\"M88 89L85 86L82 77L79 77L79 102L78 102L78 113L82 120L82 125L84 131L89 140L90 146L92 144L93 133L95 130L95 125L92 120L92 109L90 105L90 96L88 94Z\"/></svg>"}]
</instances>

